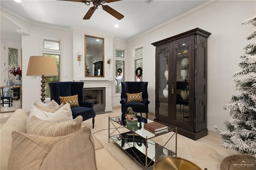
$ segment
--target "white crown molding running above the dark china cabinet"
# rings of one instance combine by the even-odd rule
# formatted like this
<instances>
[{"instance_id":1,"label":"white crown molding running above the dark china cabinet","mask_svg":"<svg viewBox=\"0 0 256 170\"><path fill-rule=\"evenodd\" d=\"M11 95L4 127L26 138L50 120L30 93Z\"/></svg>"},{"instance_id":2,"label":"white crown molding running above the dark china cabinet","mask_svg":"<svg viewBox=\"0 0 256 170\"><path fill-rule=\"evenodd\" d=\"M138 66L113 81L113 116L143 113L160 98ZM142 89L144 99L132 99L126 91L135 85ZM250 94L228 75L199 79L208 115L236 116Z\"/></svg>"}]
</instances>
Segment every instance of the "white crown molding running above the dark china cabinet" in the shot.
<instances>
[{"instance_id":1,"label":"white crown molding running above the dark china cabinet","mask_svg":"<svg viewBox=\"0 0 256 170\"><path fill-rule=\"evenodd\" d=\"M208 8L208 7L212 6L212 5L214 5L217 2L220 2L220 0L210 0L210 2L206 2L206 3L204 3L204 4L200 5L200 6L192 8L191 10L188 10L187 12L184 12L184 13L180 14L179 16L176 16L175 18L172 18L171 20L168 20L168 21L166 21L166 22L164 22L164 23L154 27L154 28L144 32L143 34L140 34L140 35L138 35L138 36L128 40L127 42L131 42L132 40L136 40L137 38L140 38L140 37L142 37L142 36L144 36L144 35L146 35L146 34L148 34L150 32L154 32L154 31L158 30L159 28L162 28L162 27L174 24L175 22L178 22L178 21L180 21L180 20L182 20L182 19L184 19L184 18L186 18L188 16L191 16L192 14L194 14L196 12L200 12L200 11L204 10L205 8Z\"/></svg>"}]
</instances>

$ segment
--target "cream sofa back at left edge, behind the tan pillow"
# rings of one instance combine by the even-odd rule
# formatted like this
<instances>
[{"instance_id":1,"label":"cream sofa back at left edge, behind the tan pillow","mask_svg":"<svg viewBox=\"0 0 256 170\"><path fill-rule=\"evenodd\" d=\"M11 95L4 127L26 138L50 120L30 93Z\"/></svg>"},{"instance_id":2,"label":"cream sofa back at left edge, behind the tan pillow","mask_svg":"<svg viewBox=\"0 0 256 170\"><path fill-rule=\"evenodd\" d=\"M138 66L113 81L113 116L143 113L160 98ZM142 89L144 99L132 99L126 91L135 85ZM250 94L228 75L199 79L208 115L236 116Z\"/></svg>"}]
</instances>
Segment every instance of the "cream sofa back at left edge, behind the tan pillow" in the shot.
<instances>
[{"instance_id":1,"label":"cream sofa back at left edge, behind the tan pillow","mask_svg":"<svg viewBox=\"0 0 256 170\"><path fill-rule=\"evenodd\" d=\"M28 114L22 109L16 110L12 116L3 124L1 124L1 152L0 152L0 169L8 169L8 158L11 150L12 131L26 133L26 121Z\"/></svg>"}]
</instances>

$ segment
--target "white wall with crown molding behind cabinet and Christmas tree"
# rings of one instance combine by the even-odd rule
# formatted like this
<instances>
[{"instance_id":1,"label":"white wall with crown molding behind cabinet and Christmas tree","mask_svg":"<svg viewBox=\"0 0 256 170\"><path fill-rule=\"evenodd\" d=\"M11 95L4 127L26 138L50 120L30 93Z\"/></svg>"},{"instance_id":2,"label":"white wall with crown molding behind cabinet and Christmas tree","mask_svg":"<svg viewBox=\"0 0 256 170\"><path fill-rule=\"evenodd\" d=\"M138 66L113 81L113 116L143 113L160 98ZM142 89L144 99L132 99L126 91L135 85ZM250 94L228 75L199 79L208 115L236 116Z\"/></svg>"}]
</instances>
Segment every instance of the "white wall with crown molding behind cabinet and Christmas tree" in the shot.
<instances>
[{"instance_id":1,"label":"white wall with crown molding behind cabinet and Christmas tree","mask_svg":"<svg viewBox=\"0 0 256 170\"><path fill-rule=\"evenodd\" d=\"M155 75L155 47L151 43L198 27L212 33L208 38L207 128L214 130L214 125L224 128L223 122L230 117L222 106L228 104L232 94L237 93L231 76L240 70L239 57L244 52L246 37L255 31L251 25L240 24L255 15L255 7L256 1L216 2L128 42L128 64L133 62L132 49L144 44L143 72L144 81L149 82L149 111L155 112L155 76L152 76ZM132 75L129 80L133 81Z\"/></svg>"}]
</instances>

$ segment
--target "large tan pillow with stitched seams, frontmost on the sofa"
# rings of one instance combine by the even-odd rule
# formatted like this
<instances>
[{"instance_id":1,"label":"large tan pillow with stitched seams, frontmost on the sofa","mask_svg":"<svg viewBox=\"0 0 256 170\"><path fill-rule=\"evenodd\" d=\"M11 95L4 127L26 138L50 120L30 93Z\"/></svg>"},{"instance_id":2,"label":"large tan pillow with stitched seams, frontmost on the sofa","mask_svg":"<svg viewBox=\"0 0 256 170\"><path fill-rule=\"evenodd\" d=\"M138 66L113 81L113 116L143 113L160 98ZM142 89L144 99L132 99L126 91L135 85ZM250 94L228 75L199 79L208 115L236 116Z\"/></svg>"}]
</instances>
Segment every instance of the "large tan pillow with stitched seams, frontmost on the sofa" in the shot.
<instances>
[{"instance_id":1,"label":"large tan pillow with stitched seams, frontmost on the sofa","mask_svg":"<svg viewBox=\"0 0 256 170\"><path fill-rule=\"evenodd\" d=\"M88 127L58 137L20 132L12 132L12 136L8 169L97 169Z\"/></svg>"}]
</instances>

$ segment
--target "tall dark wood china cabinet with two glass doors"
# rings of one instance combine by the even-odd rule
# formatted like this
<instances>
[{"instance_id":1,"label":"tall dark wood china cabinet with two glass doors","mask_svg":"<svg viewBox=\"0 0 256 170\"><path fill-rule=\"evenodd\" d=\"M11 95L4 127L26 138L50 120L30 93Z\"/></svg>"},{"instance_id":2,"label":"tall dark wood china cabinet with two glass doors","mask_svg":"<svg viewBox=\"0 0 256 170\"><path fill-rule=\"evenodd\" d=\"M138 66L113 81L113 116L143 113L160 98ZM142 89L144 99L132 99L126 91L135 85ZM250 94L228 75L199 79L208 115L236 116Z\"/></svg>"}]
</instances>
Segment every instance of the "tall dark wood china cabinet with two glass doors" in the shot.
<instances>
[{"instance_id":1,"label":"tall dark wood china cabinet with two glass doors","mask_svg":"<svg viewBox=\"0 0 256 170\"><path fill-rule=\"evenodd\" d=\"M152 43L156 47L156 119L197 140L207 135L207 38L200 28Z\"/></svg>"}]
</instances>

